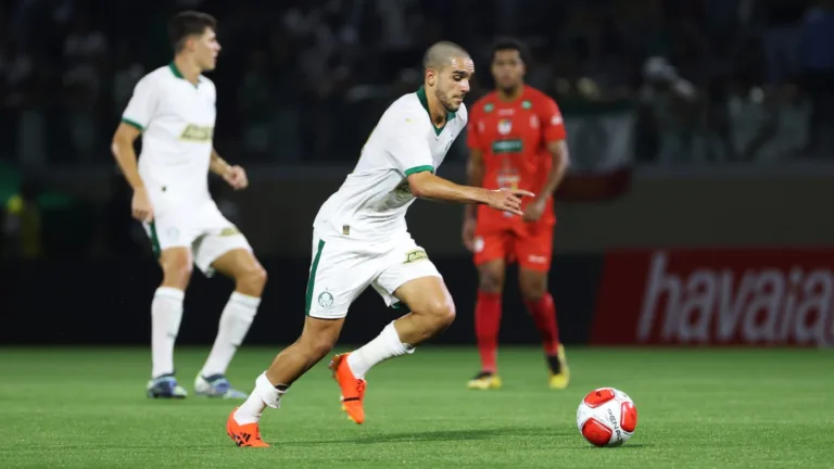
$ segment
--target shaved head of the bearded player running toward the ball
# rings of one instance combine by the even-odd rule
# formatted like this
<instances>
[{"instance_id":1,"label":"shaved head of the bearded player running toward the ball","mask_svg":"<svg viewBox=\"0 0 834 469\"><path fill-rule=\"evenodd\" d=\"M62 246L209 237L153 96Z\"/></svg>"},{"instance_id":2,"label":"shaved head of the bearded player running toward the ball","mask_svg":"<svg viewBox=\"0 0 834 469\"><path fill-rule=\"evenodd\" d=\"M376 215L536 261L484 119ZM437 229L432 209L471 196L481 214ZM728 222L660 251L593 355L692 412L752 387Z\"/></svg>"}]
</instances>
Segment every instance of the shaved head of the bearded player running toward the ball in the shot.
<instances>
[{"instance_id":1,"label":"shaved head of the bearded player running toward the ball","mask_svg":"<svg viewBox=\"0 0 834 469\"><path fill-rule=\"evenodd\" d=\"M475 74L475 63L460 46L435 42L422 56L426 92L433 96L443 107L441 117L457 112L469 92L469 79Z\"/></svg>"}]
</instances>

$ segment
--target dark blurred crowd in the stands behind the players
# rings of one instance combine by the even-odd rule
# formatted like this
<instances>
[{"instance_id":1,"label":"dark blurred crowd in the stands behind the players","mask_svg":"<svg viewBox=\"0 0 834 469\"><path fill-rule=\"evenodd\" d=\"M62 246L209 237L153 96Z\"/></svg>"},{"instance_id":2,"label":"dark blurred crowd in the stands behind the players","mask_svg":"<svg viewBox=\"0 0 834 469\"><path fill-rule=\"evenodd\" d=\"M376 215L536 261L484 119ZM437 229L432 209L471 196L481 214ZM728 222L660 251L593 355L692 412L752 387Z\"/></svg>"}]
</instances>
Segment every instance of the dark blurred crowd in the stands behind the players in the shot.
<instances>
[{"instance_id":1,"label":"dark blurred crowd in the stands behind the players","mask_svg":"<svg viewBox=\"0 0 834 469\"><path fill-rule=\"evenodd\" d=\"M532 50L566 116L633 110L635 157L682 165L834 155L834 0L4 0L0 161L111 164L134 85L170 61L166 21L219 20L216 145L237 162L348 162L425 48L456 41L488 91L489 46ZM829 129L826 131L825 129ZM463 141L452 157L463 157Z\"/></svg>"}]
</instances>

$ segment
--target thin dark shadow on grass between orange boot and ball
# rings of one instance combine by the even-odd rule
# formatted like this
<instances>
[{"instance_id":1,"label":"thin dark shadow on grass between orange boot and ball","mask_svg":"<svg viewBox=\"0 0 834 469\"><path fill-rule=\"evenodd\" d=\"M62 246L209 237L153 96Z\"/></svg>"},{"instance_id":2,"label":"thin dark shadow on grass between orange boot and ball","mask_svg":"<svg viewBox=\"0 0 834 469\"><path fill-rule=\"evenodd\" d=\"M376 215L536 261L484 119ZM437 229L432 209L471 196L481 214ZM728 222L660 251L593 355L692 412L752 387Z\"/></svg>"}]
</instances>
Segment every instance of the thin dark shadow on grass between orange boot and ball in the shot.
<instances>
[{"instance_id":1,"label":"thin dark shadow on grass between orange boot and ball","mask_svg":"<svg viewBox=\"0 0 834 469\"><path fill-rule=\"evenodd\" d=\"M374 433L366 436L340 440L296 441L285 442L282 445L318 445L332 443L380 444L380 443L415 443L415 442L448 442L489 440L498 436L564 436L572 434L566 431L554 431L551 427L504 427L495 429L437 430L403 433Z\"/></svg>"}]
</instances>

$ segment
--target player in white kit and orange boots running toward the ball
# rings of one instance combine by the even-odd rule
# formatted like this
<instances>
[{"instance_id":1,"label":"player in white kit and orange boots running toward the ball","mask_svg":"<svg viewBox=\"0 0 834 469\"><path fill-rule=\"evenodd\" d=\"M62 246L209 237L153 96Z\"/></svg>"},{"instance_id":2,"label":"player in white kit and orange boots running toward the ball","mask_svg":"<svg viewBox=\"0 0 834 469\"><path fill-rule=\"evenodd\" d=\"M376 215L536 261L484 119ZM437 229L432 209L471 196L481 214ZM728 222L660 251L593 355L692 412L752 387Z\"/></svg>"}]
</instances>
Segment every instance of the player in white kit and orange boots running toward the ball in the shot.
<instances>
[{"instance_id":1,"label":"player in white kit and orange boots running toward the ball","mask_svg":"<svg viewBox=\"0 0 834 469\"><path fill-rule=\"evenodd\" d=\"M304 330L255 380L243 405L229 415L226 431L238 446L268 446L261 439L261 414L266 407L279 407L290 384L330 352L351 303L368 286L389 306L404 304L410 313L368 344L330 363L342 408L356 423L365 420L365 373L384 359L414 352L452 324L452 297L405 224L405 213L416 198L482 203L521 214L521 197L533 195L523 190L458 186L434 175L466 126L463 100L475 65L466 51L451 42L429 48L422 65L424 86L389 106L353 173L316 216Z\"/></svg>"}]
</instances>

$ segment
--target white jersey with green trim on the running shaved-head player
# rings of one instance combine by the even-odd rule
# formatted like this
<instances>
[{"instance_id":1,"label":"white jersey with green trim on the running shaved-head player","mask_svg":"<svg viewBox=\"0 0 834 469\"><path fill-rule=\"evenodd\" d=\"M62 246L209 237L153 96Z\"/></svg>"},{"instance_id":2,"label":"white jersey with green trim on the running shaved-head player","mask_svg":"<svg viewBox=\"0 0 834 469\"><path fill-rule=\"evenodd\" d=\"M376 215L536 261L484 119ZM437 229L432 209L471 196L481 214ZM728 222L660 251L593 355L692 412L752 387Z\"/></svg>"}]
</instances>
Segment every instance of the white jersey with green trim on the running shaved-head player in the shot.
<instances>
[{"instance_id":1,"label":"white jersey with green trim on the running shaved-head player","mask_svg":"<svg viewBox=\"0 0 834 469\"><path fill-rule=\"evenodd\" d=\"M321 236L391 239L406 232L405 213L415 197L407 177L437 172L467 123L466 106L437 128L422 87L394 101L362 149L342 187L321 206L313 224Z\"/></svg>"}]
</instances>

